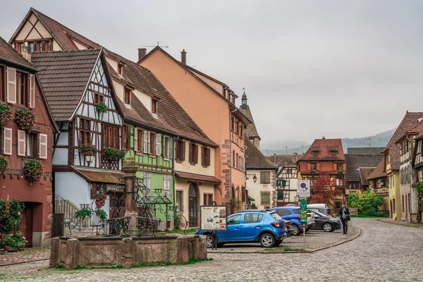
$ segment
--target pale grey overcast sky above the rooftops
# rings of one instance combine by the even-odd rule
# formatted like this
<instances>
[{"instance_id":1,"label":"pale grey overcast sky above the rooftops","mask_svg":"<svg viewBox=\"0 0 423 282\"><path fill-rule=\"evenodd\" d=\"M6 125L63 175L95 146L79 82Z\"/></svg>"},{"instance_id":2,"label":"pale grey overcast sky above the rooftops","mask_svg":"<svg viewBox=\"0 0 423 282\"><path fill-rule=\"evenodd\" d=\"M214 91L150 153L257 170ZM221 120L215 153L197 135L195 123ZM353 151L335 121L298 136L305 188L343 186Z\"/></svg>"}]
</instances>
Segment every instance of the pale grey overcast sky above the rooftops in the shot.
<instances>
[{"instance_id":1,"label":"pale grey overcast sky above the rooftops","mask_svg":"<svg viewBox=\"0 0 423 282\"><path fill-rule=\"evenodd\" d=\"M7 40L34 5L134 61L157 42L177 59L185 49L190 66L246 88L264 147L374 135L423 111L422 1L2 2Z\"/></svg>"}]
</instances>

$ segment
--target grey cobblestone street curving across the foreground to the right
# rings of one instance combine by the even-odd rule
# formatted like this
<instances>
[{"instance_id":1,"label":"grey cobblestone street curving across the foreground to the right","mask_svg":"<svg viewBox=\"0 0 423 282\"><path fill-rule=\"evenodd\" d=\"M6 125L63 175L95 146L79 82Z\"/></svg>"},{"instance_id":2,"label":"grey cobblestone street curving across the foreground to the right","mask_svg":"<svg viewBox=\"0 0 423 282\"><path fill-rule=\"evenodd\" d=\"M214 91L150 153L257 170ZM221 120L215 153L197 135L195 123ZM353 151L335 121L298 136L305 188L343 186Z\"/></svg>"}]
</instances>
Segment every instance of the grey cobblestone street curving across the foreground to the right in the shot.
<instances>
[{"instance_id":1,"label":"grey cobblestone street curving across the foreground to the right","mask_svg":"<svg viewBox=\"0 0 423 282\"><path fill-rule=\"evenodd\" d=\"M210 254L212 262L137 269L47 269L48 261L0 267L3 281L423 281L423 231L352 219L362 235L313 253ZM339 234L343 236L343 234Z\"/></svg>"}]
</instances>

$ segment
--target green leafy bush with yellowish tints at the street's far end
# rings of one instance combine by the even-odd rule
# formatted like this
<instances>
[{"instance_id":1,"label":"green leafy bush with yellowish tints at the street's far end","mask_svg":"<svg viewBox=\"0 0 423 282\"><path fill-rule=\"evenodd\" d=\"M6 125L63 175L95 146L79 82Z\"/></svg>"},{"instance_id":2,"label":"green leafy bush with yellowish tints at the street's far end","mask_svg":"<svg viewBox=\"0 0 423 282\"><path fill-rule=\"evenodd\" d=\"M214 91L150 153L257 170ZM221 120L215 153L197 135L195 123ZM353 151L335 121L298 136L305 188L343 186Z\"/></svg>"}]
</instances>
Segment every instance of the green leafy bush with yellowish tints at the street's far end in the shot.
<instances>
[{"instance_id":1,"label":"green leafy bush with yellowish tints at the street's far end","mask_svg":"<svg viewBox=\"0 0 423 282\"><path fill-rule=\"evenodd\" d=\"M381 207L384 202L384 197L376 194L372 190L350 192L348 197L348 205L357 208L358 212L379 211L379 207Z\"/></svg>"}]
</instances>

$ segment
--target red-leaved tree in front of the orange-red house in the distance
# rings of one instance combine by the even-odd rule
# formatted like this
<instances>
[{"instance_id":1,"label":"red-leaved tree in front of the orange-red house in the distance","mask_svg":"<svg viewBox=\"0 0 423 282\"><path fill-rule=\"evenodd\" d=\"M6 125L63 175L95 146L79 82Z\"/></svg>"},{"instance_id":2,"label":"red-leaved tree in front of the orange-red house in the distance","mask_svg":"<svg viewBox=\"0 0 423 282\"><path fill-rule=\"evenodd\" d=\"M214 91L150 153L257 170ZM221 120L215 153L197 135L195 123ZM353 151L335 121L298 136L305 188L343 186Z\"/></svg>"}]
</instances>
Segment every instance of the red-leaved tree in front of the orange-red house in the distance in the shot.
<instances>
[{"instance_id":1,"label":"red-leaved tree in front of the orange-red house in the distance","mask_svg":"<svg viewBox=\"0 0 423 282\"><path fill-rule=\"evenodd\" d=\"M329 174L321 174L314 183L311 190L310 203L327 204L332 206L332 201L336 197L343 195L343 190L333 187L331 176Z\"/></svg>"}]
</instances>

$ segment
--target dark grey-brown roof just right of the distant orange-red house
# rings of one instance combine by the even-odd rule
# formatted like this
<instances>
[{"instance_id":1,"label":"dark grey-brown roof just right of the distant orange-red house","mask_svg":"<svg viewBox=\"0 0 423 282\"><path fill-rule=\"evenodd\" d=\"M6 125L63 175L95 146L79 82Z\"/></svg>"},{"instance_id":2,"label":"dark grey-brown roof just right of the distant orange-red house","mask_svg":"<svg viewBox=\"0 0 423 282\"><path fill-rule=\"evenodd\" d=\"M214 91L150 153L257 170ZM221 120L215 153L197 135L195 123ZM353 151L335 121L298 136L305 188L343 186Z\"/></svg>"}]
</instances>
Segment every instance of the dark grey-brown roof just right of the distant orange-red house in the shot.
<instances>
[{"instance_id":1,"label":"dark grey-brown roof just right of the distant orange-red house","mask_svg":"<svg viewBox=\"0 0 423 282\"><path fill-rule=\"evenodd\" d=\"M359 168L376 168L383 159L384 154L345 154L345 164L347 164L345 179L360 181Z\"/></svg>"}]
</instances>

